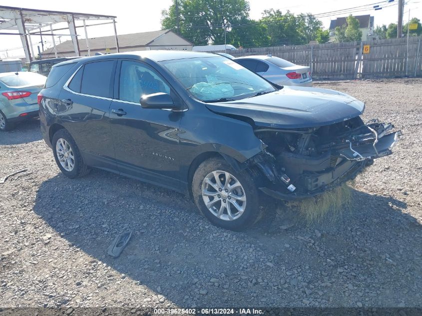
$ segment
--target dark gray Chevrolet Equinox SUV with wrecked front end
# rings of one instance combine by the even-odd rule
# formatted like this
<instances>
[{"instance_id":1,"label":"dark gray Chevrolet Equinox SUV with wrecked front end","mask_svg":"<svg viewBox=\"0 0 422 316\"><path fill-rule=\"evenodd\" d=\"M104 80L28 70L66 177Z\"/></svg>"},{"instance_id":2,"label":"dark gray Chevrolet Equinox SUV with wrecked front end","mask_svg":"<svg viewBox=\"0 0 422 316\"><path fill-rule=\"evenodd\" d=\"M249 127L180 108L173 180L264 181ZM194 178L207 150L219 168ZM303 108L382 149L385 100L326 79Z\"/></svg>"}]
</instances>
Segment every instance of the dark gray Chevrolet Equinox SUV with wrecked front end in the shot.
<instances>
[{"instance_id":1,"label":"dark gray Chevrolet Equinox SUV with wrecked front end","mask_svg":"<svg viewBox=\"0 0 422 316\"><path fill-rule=\"evenodd\" d=\"M69 178L96 167L189 194L240 230L260 196L302 199L387 156L399 132L347 94L282 87L211 53L143 51L52 67L41 131Z\"/></svg>"}]
</instances>

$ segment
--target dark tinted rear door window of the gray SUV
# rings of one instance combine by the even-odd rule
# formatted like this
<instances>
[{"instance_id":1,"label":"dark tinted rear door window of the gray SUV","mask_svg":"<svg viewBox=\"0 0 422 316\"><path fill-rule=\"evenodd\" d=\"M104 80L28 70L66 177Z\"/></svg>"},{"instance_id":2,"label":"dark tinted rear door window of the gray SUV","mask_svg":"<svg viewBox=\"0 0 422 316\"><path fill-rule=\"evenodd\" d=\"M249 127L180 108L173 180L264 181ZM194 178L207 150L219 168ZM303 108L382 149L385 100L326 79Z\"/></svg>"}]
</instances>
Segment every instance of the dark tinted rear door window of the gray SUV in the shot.
<instances>
[{"instance_id":1,"label":"dark tinted rear door window of the gray SUV","mask_svg":"<svg viewBox=\"0 0 422 316\"><path fill-rule=\"evenodd\" d=\"M112 78L113 71L113 60L85 64L80 93L111 98L112 85L114 83Z\"/></svg>"}]
</instances>

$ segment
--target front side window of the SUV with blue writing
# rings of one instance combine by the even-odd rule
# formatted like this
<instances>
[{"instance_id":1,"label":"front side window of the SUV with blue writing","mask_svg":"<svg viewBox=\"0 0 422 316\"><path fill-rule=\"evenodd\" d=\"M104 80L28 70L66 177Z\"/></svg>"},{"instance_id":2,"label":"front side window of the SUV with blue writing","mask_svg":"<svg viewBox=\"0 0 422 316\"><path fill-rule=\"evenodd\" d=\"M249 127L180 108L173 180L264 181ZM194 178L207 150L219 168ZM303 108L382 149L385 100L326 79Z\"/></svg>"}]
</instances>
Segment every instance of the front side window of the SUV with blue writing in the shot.
<instances>
[{"instance_id":1,"label":"front side window of the SUV with blue writing","mask_svg":"<svg viewBox=\"0 0 422 316\"><path fill-rule=\"evenodd\" d=\"M142 95L164 92L170 87L163 79L145 64L123 60L120 69L119 99L139 103Z\"/></svg>"}]
</instances>

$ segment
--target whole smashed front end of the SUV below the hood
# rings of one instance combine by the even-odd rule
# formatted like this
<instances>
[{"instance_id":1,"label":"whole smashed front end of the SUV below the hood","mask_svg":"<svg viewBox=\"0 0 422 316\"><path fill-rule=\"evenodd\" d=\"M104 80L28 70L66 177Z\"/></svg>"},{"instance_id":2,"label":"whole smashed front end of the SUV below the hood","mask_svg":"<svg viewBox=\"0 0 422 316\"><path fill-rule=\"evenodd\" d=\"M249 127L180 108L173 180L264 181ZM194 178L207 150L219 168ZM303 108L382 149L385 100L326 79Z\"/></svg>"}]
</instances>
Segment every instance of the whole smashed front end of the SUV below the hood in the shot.
<instances>
[{"instance_id":1,"label":"whole smashed front end of the SUV below the hood","mask_svg":"<svg viewBox=\"0 0 422 316\"><path fill-rule=\"evenodd\" d=\"M256 128L267 146L246 161L267 181L260 190L274 198L295 200L323 193L354 179L376 158L392 154L401 131L391 123L357 116L340 123L299 129Z\"/></svg>"}]
</instances>

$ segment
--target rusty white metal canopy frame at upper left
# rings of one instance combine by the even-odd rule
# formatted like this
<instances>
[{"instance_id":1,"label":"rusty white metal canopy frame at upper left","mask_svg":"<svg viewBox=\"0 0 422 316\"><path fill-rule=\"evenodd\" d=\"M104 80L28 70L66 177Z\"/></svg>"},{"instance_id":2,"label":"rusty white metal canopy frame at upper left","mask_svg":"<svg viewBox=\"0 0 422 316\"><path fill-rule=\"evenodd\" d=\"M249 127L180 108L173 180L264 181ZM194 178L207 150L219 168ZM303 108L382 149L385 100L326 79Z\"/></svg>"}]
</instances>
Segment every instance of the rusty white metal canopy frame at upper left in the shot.
<instances>
[{"instance_id":1,"label":"rusty white metal canopy frame at upper left","mask_svg":"<svg viewBox=\"0 0 422 316\"><path fill-rule=\"evenodd\" d=\"M89 13L77 13L66 11L50 11L29 9L23 7L3 6L0 5L0 30L8 30L10 32L0 32L0 35L18 35L22 42L22 47L25 52L26 61L30 62L34 59L34 52L32 47L31 35L45 35L51 36L53 42L53 49L57 57L55 49L54 36L70 36L73 42L73 48L76 56L80 56L79 44L77 41L76 33L77 27L84 28L84 35L86 37L86 45L89 51L89 43L86 27L94 25L102 25L112 23L114 27L114 37L116 40L117 52L119 51L119 43L117 40L116 31L116 16L113 15L100 15ZM86 21L100 21L108 20L109 22L86 24ZM75 21L83 21L83 25L76 26ZM68 27L53 29L52 25L56 23L67 23ZM41 28L49 27L48 30L41 30ZM54 31L69 29L70 34L54 34ZM17 31L17 32L16 32Z\"/></svg>"}]
</instances>

